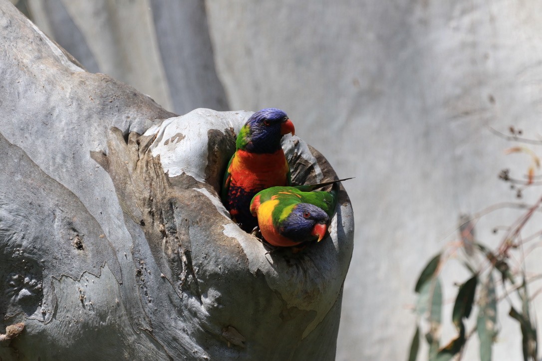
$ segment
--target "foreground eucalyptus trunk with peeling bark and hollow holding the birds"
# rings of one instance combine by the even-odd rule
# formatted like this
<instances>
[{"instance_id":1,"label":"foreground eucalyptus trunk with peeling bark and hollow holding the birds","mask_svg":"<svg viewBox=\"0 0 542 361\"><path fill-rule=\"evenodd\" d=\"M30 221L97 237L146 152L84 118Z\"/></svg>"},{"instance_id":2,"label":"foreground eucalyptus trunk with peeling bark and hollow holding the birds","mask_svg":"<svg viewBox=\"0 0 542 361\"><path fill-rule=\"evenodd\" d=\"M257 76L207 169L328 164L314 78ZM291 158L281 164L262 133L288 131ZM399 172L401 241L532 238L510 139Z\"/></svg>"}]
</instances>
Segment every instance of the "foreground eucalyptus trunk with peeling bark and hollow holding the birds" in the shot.
<instances>
[{"instance_id":1,"label":"foreground eucalyptus trunk with peeling bark and hollow holding the birds","mask_svg":"<svg viewBox=\"0 0 542 361\"><path fill-rule=\"evenodd\" d=\"M334 359L344 190L330 237L269 253L218 196L251 113L170 113L5 1L0 33L2 360ZM335 177L298 137L283 148L294 182Z\"/></svg>"}]
</instances>

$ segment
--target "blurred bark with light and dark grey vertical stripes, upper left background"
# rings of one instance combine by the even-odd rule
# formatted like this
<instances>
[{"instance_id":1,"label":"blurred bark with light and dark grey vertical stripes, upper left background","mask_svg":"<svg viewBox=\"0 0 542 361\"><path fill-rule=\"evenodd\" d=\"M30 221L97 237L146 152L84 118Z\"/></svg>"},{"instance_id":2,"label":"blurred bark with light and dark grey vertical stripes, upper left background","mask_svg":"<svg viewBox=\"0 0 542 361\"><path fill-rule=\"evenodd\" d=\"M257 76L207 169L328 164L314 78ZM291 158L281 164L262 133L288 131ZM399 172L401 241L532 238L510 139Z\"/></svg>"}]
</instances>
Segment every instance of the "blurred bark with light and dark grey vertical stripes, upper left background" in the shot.
<instances>
[{"instance_id":1,"label":"blurred bark with light and dark grey vertical stripes, upper left background","mask_svg":"<svg viewBox=\"0 0 542 361\"><path fill-rule=\"evenodd\" d=\"M89 71L131 84L178 114L228 109L203 2L29 0L29 9Z\"/></svg>"}]
</instances>

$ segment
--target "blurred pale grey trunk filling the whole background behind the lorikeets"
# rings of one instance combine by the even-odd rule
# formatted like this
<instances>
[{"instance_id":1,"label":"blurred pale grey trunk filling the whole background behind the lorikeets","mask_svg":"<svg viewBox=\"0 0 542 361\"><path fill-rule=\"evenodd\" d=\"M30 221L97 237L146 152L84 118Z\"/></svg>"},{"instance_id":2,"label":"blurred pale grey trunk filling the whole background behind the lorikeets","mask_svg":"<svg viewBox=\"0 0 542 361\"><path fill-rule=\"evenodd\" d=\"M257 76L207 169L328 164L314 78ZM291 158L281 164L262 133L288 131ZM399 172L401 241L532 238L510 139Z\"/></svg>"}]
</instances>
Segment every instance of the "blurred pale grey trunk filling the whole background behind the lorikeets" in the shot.
<instances>
[{"instance_id":1,"label":"blurred pale grey trunk filling the whole background behind the lorikeets","mask_svg":"<svg viewBox=\"0 0 542 361\"><path fill-rule=\"evenodd\" d=\"M177 114L286 110L341 178L356 176L344 185L356 242L339 360L406 357L423 265L459 237L461 214L514 199L501 168L528 165L506 158L510 143L491 128L542 132L534 0L12 2L89 71ZM492 228L514 217L479 224L478 238L495 244ZM459 267L444 272L466 277ZM456 292L447 286L444 317ZM452 334L444 330L444 342ZM519 359L520 337L502 316L495 359ZM467 359L477 352L469 346Z\"/></svg>"}]
</instances>

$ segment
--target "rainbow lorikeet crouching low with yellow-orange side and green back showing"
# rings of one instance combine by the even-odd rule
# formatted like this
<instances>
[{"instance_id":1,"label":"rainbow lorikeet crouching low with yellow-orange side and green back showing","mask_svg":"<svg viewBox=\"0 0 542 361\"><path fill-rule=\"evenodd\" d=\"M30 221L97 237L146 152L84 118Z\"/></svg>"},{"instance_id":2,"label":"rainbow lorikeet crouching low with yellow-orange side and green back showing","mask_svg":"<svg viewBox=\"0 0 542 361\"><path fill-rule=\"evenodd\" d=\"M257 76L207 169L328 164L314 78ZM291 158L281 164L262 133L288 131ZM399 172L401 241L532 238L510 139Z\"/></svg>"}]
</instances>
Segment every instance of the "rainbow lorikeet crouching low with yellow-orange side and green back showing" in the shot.
<instances>
[{"instance_id":1,"label":"rainbow lorikeet crouching low with yellow-orange side and green back showing","mask_svg":"<svg viewBox=\"0 0 542 361\"><path fill-rule=\"evenodd\" d=\"M350 178L347 178L350 179ZM271 187L257 193L250 212L257 216L260 232L271 245L298 246L321 241L337 204L337 181L295 187ZM330 192L314 191L333 184Z\"/></svg>"}]
</instances>

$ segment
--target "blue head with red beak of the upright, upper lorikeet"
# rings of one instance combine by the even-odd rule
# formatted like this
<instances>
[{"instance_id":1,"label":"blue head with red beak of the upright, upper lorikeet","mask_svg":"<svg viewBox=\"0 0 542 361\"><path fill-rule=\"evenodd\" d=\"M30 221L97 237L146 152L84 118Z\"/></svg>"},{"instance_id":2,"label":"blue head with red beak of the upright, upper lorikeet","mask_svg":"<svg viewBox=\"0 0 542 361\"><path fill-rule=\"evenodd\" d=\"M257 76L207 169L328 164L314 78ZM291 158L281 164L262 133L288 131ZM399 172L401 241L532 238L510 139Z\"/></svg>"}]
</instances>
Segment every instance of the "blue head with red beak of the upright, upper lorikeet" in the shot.
<instances>
[{"instance_id":1,"label":"blue head with red beak of the upright, upper lorikeet","mask_svg":"<svg viewBox=\"0 0 542 361\"><path fill-rule=\"evenodd\" d=\"M237 149L252 153L275 153L283 135L295 134L288 115L280 109L266 108L256 111L244 124L237 136Z\"/></svg>"}]
</instances>

